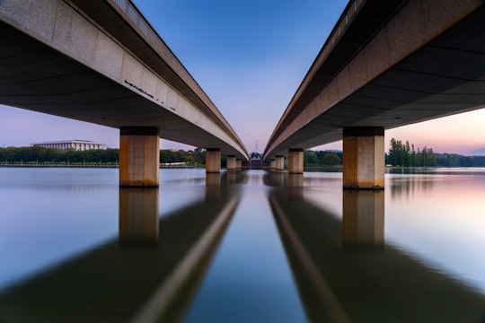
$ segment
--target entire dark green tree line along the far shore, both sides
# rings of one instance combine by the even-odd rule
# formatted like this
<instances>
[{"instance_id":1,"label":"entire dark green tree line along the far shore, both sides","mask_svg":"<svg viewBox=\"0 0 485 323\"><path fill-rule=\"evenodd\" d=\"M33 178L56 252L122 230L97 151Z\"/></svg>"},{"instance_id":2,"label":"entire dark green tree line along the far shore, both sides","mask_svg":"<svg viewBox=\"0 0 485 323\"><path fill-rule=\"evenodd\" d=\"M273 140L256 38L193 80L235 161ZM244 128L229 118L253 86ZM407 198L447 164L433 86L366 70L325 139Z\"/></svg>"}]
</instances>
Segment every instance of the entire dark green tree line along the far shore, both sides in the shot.
<instances>
[{"instance_id":1,"label":"entire dark green tree line along the far shore, both sides","mask_svg":"<svg viewBox=\"0 0 485 323\"><path fill-rule=\"evenodd\" d=\"M86 151L60 150L57 148L0 147L0 164L105 164L118 165L119 149L92 149ZM196 148L190 151L160 150L160 162L186 162L203 165L206 162L206 150ZM391 139L389 153L385 162L392 166L403 167L485 167L485 156L463 156L455 153L434 153L432 148L415 149L408 141ZM222 157L222 166L226 164ZM304 151L304 167L340 166L340 151Z\"/></svg>"}]
</instances>

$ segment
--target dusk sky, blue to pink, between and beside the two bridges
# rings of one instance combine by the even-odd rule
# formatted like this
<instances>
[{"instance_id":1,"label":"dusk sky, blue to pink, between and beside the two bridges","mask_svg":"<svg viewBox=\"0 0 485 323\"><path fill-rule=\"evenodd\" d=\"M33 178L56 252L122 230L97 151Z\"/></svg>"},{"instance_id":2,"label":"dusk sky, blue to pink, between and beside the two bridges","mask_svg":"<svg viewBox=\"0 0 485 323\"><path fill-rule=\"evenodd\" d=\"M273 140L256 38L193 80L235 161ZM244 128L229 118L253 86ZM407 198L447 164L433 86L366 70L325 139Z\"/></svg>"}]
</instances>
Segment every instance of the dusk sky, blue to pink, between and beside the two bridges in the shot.
<instances>
[{"instance_id":1,"label":"dusk sky, blue to pink, between and beside the two bridges","mask_svg":"<svg viewBox=\"0 0 485 323\"><path fill-rule=\"evenodd\" d=\"M135 0L241 137L264 150L347 0ZM485 106L484 106L485 107ZM437 153L485 155L485 109L385 132ZM119 130L0 105L0 146L83 139L119 147ZM190 146L162 140L163 149ZM341 149L341 142L313 149Z\"/></svg>"}]
</instances>

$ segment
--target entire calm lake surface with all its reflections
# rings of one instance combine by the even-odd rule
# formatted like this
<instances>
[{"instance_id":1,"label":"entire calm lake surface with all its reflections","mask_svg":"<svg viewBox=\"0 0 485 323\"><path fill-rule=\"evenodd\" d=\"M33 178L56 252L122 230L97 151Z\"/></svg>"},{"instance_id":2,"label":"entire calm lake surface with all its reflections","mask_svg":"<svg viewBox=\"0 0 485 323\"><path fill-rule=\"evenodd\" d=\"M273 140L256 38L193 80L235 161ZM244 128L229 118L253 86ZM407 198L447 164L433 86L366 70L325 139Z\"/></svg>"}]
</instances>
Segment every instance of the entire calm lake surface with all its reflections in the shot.
<instances>
[{"instance_id":1,"label":"entire calm lake surface with all its reflections","mask_svg":"<svg viewBox=\"0 0 485 323\"><path fill-rule=\"evenodd\" d=\"M485 169L0 168L0 322L483 322Z\"/></svg>"}]
</instances>

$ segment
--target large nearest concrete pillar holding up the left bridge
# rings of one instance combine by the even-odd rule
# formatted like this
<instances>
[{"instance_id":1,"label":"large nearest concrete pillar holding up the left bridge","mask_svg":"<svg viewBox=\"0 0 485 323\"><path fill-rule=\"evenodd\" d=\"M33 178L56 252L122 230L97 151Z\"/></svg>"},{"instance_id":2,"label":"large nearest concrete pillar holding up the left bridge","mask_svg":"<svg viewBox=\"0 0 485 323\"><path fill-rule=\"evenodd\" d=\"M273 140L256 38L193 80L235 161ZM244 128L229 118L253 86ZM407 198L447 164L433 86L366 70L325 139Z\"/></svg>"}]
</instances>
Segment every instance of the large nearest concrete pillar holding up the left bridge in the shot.
<instances>
[{"instance_id":1,"label":"large nearest concrete pillar holding up the left bridge","mask_svg":"<svg viewBox=\"0 0 485 323\"><path fill-rule=\"evenodd\" d=\"M158 187L160 135L155 127L119 131L119 186Z\"/></svg>"}]
</instances>

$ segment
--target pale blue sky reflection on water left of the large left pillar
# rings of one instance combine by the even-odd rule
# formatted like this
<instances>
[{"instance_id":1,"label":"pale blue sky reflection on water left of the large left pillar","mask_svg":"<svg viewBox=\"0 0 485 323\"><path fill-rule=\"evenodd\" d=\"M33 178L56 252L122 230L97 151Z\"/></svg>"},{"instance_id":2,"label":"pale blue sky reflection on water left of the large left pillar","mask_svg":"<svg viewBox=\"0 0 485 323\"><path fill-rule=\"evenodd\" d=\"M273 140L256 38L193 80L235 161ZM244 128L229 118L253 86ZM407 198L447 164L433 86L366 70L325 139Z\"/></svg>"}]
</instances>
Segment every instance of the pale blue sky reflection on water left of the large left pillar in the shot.
<instances>
[{"instance_id":1,"label":"pale blue sky reflection on water left of the large left pillar","mask_svg":"<svg viewBox=\"0 0 485 323\"><path fill-rule=\"evenodd\" d=\"M118 233L118 170L0 168L0 287Z\"/></svg>"}]
</instances>

